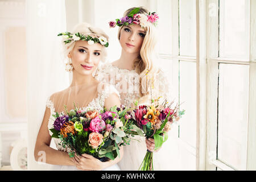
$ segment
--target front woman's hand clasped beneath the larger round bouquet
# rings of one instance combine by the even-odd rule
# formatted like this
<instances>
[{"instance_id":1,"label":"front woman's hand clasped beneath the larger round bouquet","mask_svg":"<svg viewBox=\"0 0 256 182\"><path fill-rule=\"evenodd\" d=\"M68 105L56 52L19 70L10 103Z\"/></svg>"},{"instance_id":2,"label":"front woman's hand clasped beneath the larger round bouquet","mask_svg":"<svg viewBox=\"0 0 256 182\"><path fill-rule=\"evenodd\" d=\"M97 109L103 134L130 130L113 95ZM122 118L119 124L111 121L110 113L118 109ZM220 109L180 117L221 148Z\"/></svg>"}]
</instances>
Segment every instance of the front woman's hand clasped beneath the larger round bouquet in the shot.
<instances>
[{"instance_id":1,"label":"front woman's hand clasped beneath the larger round bouquet","mask_svg":"<svg viewBox=\"0 0 256 182\"><path fill-rule=\"evenodd\" d=\"M88 154L75 154L73 162L75 163L77 169L83 171L101 171L105 168L104 162L101 162L100 160L94 158L92 155Z\"/></svg>"}]
</instances>

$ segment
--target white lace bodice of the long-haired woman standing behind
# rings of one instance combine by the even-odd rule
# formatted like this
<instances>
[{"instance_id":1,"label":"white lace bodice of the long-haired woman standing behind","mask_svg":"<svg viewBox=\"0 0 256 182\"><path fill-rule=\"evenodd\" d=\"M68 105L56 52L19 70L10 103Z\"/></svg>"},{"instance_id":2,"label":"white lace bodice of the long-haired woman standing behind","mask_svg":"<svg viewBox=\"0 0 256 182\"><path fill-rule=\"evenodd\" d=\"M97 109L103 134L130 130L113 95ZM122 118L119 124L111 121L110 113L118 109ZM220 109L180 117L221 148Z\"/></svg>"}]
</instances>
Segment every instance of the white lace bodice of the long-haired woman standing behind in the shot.
<instances>
[{"instance_id":1,"label":"white lace bodice of the long-haired woman standing behind","mask_svg":"<svg viewBox=\"0 0 256 182\"><path fill-rule=\"evenodd\" d=\"M134 101L141 97L139 94L139 77L139 74L134 70L118 68L111 63L99 65L94 75L97 80L114 85L120 94L121 104L132 108L134 107ZM155 89L152 90L152 97L154 99L161 97L160 101L165 99L170 101L172 86L167 81L162 69L154 74L154 80ZM148 97L148 101L150 99Z\"/></svg>"}]
</instances>

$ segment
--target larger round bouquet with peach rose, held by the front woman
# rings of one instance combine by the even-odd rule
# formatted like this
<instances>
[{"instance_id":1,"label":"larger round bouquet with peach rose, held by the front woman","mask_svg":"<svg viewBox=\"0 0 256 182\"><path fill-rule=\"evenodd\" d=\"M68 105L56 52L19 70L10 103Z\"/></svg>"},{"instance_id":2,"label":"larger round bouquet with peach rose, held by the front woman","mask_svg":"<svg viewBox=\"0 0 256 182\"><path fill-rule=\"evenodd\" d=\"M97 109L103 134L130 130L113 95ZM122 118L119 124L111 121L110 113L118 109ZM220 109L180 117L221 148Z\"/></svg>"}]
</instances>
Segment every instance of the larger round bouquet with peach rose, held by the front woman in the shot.
<instances>
[{"instance_id":1,"label":"larger round bouquet with peach rose, held by the front woman","mask_svg":"<svg viewBox=\"0 0 256 182\"><path fill-rule=\"evenodd\" d=\"M75 104L74 104L75 105ZM124 106L104 110L75 109L53 115L52 138L59 138L60 144L69 149L69 156L89 154L102 162L120 157L119 147L130 144L140 129ZM137 130L137 131L136 131Z\"/></svg>"}]
</instances>

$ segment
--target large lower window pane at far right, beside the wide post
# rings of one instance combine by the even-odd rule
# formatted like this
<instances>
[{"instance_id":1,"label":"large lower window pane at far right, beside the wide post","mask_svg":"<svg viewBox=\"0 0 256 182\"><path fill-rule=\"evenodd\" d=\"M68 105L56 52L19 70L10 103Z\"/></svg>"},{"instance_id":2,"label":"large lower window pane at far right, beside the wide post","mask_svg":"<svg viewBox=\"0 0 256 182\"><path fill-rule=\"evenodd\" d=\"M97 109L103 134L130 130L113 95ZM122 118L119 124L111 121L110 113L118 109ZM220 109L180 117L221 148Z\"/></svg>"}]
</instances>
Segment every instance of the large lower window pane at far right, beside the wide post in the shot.
<instances>
[{"instance_id":1,"label":"large lower window pane at far right, beside the wide post","mask_svg":"<svg viewBox=\"0 0 256 182\"><path fill-rule=\"evenodd\" d=\"M246 169L249 65L220 64L218 88L218 159Z\"/></svg>"}]
</instances>

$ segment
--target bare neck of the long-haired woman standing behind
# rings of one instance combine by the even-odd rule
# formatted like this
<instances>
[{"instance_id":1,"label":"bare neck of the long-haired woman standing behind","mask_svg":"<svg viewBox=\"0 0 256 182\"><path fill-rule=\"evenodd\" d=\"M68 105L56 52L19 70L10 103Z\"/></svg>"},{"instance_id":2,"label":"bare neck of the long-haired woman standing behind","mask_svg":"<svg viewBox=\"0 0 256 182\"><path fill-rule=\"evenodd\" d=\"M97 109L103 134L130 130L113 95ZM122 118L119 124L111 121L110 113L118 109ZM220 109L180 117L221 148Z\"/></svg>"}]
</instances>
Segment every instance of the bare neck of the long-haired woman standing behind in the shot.
<instances>
[{"instance_id":1,"label":"bare neck of the long-haired woman standing behind","mask_svg":"<svg viewBox=\"0 0 256 182\"><path fill-rule=\"evenodd\" d=\"M122 49L121 56L118 60L118 67L123 69L133 70L134 61L135 59L137 59L138 56L139 56L138 53L127 53Z\"/></svg>"}]
</instances>

